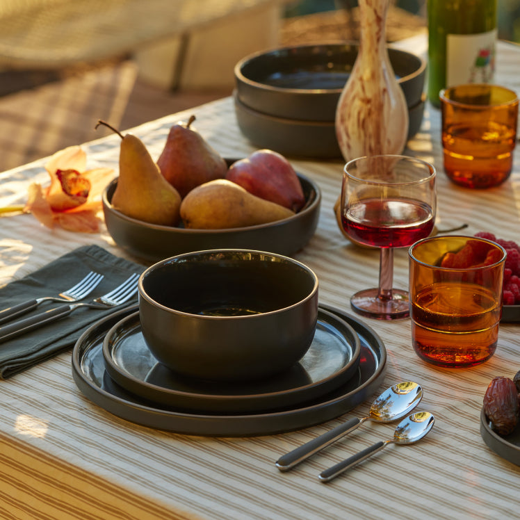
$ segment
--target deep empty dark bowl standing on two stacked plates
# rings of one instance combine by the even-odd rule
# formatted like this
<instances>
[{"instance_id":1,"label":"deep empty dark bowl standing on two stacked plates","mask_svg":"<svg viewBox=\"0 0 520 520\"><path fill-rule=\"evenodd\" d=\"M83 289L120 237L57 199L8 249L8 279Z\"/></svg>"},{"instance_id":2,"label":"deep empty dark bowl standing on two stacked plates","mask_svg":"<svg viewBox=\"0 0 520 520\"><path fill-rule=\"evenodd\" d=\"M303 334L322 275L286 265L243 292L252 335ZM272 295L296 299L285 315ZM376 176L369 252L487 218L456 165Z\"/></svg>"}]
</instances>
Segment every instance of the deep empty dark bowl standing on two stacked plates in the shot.
<instances>
[{"instance_id":1,"label":"deep empty dark bowl standing on two stacked plates","mask_svg":"<svg viewBox=\"0 0 520 520\"><path fill-rule=\"evenodd\" d=\"M139 279L143 337L172 371L251 380L288 370L309 349L318 279L302 263L252 250L163 260Z\"/></svg>"}]
</instances>

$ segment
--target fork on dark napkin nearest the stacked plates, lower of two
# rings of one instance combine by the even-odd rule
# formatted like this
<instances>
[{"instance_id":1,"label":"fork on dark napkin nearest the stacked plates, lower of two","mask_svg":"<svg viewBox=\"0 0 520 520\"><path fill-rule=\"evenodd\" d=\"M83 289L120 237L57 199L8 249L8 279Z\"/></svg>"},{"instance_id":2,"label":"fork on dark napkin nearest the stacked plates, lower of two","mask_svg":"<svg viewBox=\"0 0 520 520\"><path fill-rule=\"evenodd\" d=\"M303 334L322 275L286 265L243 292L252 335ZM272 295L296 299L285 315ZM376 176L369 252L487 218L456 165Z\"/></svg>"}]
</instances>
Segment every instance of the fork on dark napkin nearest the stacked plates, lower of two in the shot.
<instances>
[{"instance_id":1,"label":"fork on dark napkin nearest the stacked plates, lower of two","mask_svg":"<svg viewBox=\"0 0 520 520\"><path fill-rule=\"evenodd\" d=\"M138 279L139 275L133 274L122 284L113 289L113 291L99 296L99 298L94 298L91 302L60 305L60 307L56 307L55 309L40 312L40 314L37 314L36 316L31 316L30 318L18 320L15 321L15 323L10 323L10 325L0 327L0 343L21 336L26 332L38 329L44 325L48 325L49 323L53 323L54 321L67 316L79 307L106 309L107 307L116 307L117 305L121 305L130 300L130 298L137 292Z\"/></svg>"}]
</instances>

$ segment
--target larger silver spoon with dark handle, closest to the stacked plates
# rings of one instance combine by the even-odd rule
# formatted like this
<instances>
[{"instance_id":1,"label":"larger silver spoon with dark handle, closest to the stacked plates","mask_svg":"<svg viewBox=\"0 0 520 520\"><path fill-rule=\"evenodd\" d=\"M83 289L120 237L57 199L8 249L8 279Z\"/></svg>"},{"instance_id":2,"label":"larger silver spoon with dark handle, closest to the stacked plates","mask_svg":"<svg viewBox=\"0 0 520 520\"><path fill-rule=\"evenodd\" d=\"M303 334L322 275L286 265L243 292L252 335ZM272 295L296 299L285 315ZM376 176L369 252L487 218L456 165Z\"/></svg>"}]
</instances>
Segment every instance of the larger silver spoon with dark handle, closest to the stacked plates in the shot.
<instances>
[{"instance_id":1,"label":"larger silver spoon with dark handle, closest to the stacked plates","mask_svg":"<svg viewBox=\"0 0 520 520\"><path fill-rule=\"evenodd\" d=\"M282 455L277 460L276 467L280 471L293 469L296 464L300 464L300 462L307 460L311 455L318 453L318 451L341 439L344 435L354 431L368 419L380 423L391 423L391 421L401 419L401 417L412 412L412 409L419 405L422 398L423 389L419 384L412 381L394 384L376 398L370 408L368 417L350 419L350 421L332 428L329 432L321 434L316 439L298 446L298 448Z\"/></svg>"}]
</instances>

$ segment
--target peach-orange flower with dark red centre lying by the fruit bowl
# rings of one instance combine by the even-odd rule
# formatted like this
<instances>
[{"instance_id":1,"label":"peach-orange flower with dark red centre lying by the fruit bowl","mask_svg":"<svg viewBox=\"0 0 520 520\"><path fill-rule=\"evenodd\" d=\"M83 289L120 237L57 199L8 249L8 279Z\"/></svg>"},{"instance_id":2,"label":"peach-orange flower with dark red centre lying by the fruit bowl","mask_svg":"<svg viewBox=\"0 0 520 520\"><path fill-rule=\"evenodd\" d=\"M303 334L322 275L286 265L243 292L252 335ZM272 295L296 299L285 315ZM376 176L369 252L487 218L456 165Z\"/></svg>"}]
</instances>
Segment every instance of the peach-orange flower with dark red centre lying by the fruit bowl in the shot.
<instances>
[{"instance_id":1,"label":"peach-orange flower with dark red centre lying by the fruit bowl","mask_svg":"<svg viewBox=\"0 0 520 520\"><path fill-rule=\"evenodd\" d=\"M31 184L25 211L33 213L47 227L58 225L83 233L99 231L99 195L114 171L111 168L85 171L86 163L86 153L79 146L56 152L45 165L51 177L50 186Z\"/></svg>"}]
</instances>

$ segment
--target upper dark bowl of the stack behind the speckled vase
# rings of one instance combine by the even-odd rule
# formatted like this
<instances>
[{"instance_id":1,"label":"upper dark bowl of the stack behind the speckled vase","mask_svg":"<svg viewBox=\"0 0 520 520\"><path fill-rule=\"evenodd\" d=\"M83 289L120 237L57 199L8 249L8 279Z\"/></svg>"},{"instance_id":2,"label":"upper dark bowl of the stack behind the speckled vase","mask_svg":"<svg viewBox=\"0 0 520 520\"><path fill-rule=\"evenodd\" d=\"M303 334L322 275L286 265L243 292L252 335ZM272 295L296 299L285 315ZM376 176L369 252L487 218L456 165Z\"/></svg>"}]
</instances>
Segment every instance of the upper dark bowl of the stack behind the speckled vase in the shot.
<instances>
[{"instance_id":1,"label":"upper dark bowl of the stack behind the speckled vase","mask_svg":"<svg viewBox=\"0 0 520 520\"><path fill-rule=\"evenodd\" d=\"M237 97L260 113L332 122L358 49L356 42L345 42L283 47L246 56L234 67ZM391 47L388 53L407 106L416 106L424 88L425 60Z\"/></svg>"}]
</instances>

